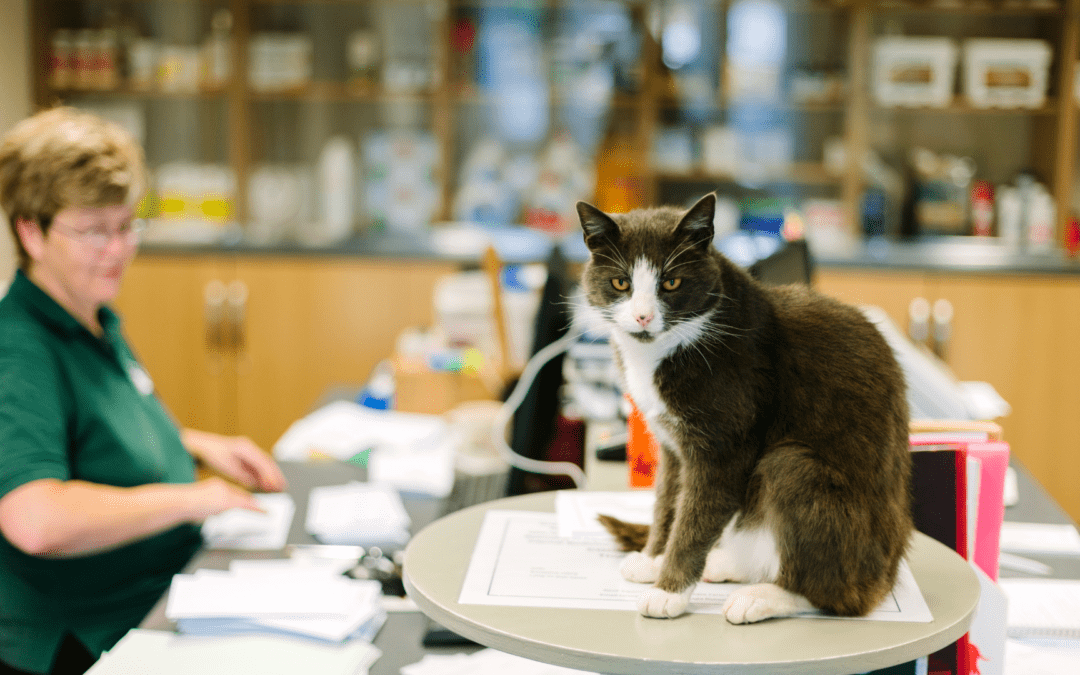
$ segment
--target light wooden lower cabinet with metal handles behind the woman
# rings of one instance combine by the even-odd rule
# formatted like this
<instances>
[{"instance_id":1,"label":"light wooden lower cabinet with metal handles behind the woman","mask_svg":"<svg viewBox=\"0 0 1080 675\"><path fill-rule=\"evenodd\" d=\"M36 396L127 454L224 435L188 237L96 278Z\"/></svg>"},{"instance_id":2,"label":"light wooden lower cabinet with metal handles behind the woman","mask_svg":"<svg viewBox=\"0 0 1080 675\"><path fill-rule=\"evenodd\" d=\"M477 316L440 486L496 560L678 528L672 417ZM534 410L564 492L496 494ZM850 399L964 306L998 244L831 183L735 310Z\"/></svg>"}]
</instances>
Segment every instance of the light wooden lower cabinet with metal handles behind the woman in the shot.
<instances>
[{"instance_id":1,"label":"light wooden lower cabinet with metal handles behind the woman","mask_svg":"<svg viewBox=\"0 0 1080 675\"><path fill-rule=\"evenodd\" d=\"M403 328L430 325L435 281L456 269L422 260L140 255L117 307L178 423L245 434L270 449L327 390L362 386ZM217 311L213 296L221 291L226 307Z\"/></svg>"}]
</instances>

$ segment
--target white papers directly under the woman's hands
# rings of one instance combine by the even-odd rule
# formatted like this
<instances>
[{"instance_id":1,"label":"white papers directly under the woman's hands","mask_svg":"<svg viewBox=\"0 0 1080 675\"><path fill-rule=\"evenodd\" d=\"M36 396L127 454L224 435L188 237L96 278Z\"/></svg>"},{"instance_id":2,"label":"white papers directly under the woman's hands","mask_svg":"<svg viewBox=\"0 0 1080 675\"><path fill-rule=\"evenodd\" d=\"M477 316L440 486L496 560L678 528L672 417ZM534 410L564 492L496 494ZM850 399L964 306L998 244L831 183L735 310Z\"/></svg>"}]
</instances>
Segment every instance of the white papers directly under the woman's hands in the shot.
<instances>
[{"instance_id":1,"label":"white papers directly under the woman's hands","mask_svg":"<svg viewBox=\"0 0 1080 675\"><path fill-rule=\"evenodd\" d=\"M285 492L255 495L255 499L266 513L229 509L206 518L202 526L206 545L211 549L284 549L296 503Z\"/></svg>"}]
</instances>

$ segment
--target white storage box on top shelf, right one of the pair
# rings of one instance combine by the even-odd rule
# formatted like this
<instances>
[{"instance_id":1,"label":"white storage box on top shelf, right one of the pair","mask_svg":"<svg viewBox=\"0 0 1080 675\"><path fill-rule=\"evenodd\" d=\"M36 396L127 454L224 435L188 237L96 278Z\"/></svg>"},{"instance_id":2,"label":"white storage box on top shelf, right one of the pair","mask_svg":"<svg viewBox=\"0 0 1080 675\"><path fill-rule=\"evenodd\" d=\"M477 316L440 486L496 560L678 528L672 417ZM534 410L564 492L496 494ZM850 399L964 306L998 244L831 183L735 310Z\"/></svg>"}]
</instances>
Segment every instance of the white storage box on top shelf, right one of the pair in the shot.
<instances>
[{"instance_id":1,"label":"white storage box on top shelf, right one of the pair","mask_svg":"<svg viewBox=\"0 0 1080 675\"><path fill-rule=\"evenodd\" d=\"M1050 58L1043 40L966 40L964 95L976 108L1038 108L1047 100Z\"/></svg>"}]
</instances>

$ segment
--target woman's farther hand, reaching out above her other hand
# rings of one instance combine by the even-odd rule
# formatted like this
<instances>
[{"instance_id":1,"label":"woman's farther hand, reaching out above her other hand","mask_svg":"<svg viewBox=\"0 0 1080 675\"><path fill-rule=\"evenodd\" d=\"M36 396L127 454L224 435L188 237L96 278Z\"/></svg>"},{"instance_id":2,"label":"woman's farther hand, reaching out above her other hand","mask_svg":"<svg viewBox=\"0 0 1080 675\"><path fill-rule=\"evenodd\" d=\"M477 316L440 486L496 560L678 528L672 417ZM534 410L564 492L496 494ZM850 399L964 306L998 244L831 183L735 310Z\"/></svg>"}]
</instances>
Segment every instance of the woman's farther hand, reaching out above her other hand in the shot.
<instances>
[{"instance_id":1,"label":"woman's farther hand, reaching out above her other hand","mask_svg":"<svg viewBox=\"0 0 1080 675\"><path fill-rule=\"evenodd\" d=\"M285 489L285 476L278 462L246 436L185 429L180 437L191 455L248 489L266 492Z\"/></svg>"}]
</instances>

